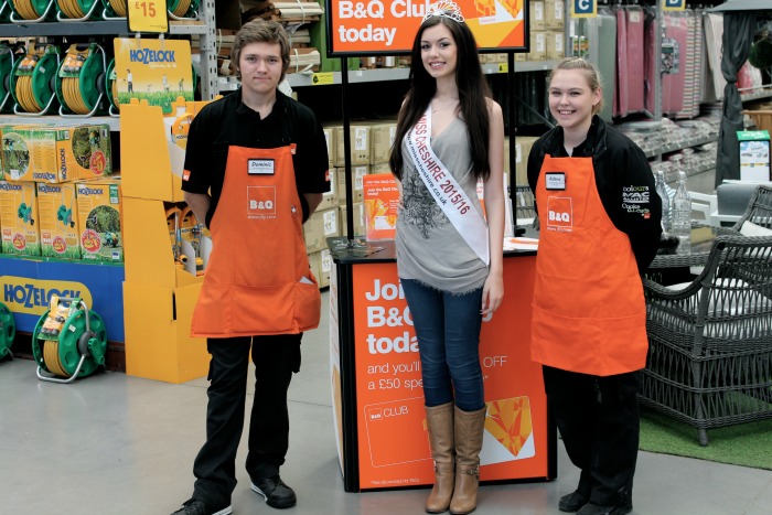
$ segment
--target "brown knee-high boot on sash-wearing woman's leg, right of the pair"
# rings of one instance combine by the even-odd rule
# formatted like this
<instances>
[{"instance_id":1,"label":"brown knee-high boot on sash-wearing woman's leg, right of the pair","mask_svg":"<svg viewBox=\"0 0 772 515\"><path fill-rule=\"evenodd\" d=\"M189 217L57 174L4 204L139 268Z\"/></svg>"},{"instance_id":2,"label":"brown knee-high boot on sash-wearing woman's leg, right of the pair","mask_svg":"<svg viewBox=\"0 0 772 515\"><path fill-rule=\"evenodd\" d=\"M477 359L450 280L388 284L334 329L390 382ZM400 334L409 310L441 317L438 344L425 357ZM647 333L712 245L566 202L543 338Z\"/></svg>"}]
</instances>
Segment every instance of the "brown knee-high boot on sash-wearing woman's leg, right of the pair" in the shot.
<instances>
[{"instance_id":1,"label":"brown knee-high boot on sash-wearing woman's leg, right of the pair","mask_svg":"<svg viewBox=\"0 0 772 515\"><path fill-rule=\"evenodd\" d=\"M482 450L485 411L462 411L455 407L455 486L450 501L450 513L463 515L478 507L480 483L480 451Z\"/></svg>"}]
</instances>

